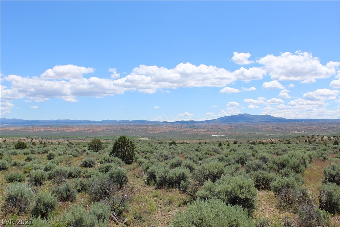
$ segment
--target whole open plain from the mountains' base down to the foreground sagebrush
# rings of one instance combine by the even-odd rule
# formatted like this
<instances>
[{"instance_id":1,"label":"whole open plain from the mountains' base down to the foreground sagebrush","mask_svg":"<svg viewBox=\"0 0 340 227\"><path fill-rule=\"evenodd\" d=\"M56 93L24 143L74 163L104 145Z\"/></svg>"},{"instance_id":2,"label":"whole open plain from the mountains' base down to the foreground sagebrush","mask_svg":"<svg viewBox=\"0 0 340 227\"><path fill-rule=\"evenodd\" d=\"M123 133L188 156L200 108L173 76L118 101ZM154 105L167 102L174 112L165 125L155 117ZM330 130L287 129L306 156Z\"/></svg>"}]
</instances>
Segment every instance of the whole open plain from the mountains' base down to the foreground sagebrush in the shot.
<instances>
[{"instance_id":1,"label":"whole open plain from the mountains' base down to the foreground sagebrush","mask_svg":"<svg viewBox=\"0 0 340 227\"><path fill-rule=\"evenodd\" d=\"M1 218L30 220L33 226L75 226L77 218L83 226L179 226L187 207L205 198L207 182L216 181L218 187L230 178L236 185L249 184L246 187L255 192L253 204L242 205L250 211L251 222L237 214L236 226L248 222L252 226L306 226L306 218L310 226L339 226L339 212L325 212L320 200L325 187L323 169L332 163L340 165L339 131L338 124L317 122L3 126ZM120 135L135 144L132 164L111 156ZM97 152L89 147L94 137L103 142ZM19 142L27 148L16 149ZM115 171L120 171L123 181L114 177ZM209 175L209 171L214 173ZM41 182L34 178L38 173ZM91 191L96 181L110 176L116 192L96 199ZM243 183L237 182L239 177ZM277 188L286 179L291 180L289 192ZM55 196L58 203L47 216L34 215L34 199L26 209L11 201L10 188L22 182L33 190L33 197ZM302 192L309 199L301 200ZM226 192L226 196L233 193ZM250 191L243 193L250 196ZM119 198L125 200L117 205ZM243 204L223 198L229 205ZM307 205L312 212L309 216L301 211ZM104 212L95 224L85 216L98 214L98 209L104 209L99 206L111 207L107 209L114 215Z\"/></svg>"}]
</instances>

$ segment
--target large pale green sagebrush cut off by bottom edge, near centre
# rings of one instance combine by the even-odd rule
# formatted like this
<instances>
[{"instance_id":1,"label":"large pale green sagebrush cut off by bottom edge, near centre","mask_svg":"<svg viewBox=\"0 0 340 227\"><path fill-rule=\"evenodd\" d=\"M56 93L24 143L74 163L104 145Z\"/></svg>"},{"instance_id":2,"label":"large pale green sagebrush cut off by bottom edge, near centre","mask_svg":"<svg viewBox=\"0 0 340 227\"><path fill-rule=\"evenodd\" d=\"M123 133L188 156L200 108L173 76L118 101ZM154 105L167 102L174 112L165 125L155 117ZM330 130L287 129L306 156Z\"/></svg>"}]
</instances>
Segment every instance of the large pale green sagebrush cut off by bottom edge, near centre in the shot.
<instances>
[{"instance_id":1,"label":"large pale green sagebrush cut off by bottom edge, near centre","mask_svg":"<svg viewBox=\"0 0 340 227\"><path fill-rule=\"evenodd\" d=\"M194 201L173 217L173 226L253 226L253 220L240 206L225 205L218 199Z\"/></svg>"}]
</instances>

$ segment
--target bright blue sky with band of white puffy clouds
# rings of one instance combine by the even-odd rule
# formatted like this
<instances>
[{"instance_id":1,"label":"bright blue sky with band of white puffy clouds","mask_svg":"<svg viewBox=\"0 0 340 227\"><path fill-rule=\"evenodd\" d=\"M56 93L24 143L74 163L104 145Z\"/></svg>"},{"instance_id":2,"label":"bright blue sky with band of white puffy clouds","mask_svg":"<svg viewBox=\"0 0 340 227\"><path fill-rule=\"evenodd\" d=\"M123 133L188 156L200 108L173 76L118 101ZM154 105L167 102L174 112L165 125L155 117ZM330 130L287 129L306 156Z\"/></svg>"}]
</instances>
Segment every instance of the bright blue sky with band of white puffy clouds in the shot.
<instances>
[{"instance_id":1,"label":"bright blue sky with band of white puffy clouds","mask_svg":"<svg viewBox=\"0 0 340 227\"><path fill-rule=\"evenodd\" d=\"M339 1L0 6L2 118L339 118Z\"/></svg>"}]
</instances>

